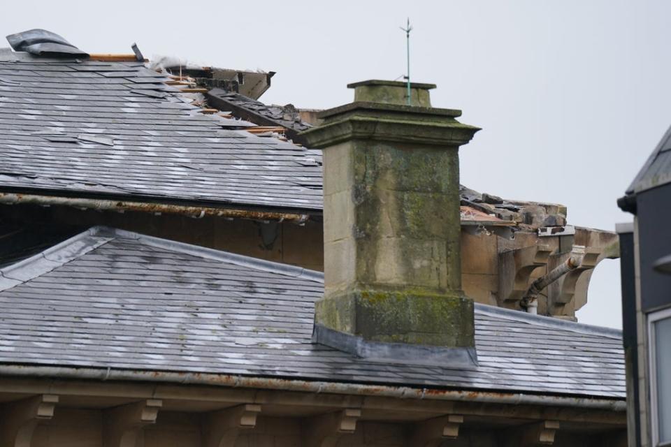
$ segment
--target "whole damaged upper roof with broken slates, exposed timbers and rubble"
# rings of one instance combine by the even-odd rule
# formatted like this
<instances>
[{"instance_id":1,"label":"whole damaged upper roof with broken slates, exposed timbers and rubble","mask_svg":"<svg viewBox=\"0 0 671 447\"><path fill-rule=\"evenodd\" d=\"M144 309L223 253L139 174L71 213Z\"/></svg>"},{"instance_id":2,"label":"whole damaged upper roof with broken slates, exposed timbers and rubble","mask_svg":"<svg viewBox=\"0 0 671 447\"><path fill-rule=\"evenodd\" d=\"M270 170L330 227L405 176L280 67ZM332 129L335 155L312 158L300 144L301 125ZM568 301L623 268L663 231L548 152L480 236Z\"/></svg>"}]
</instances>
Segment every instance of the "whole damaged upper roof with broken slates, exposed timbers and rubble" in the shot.
<instances>
[{"instance_id":1,"label":"whole damaged upper roof with broken slates, exposed timbers and rubble","mask_svg":"<svg viewBox=\"0 0 671 447\"><path fill-rule=\"evenodd\" d=\"M33 31L43 30L15 38L17 48L39 40L41 34L29 38ZM150 69L134 55L117 59L0 50L0 193L14 194L1 196L3 203L31 193L31 201L169 202L214 214L217 207L322 210L321 151L287 141L300 142L298 133L310 124L292 105L255 99L273 72L171 58L152 61ZM565 225L559 205L512 202L463 186L461 205L462 223L474 228Z\"/></svg>"}]
</instances>

